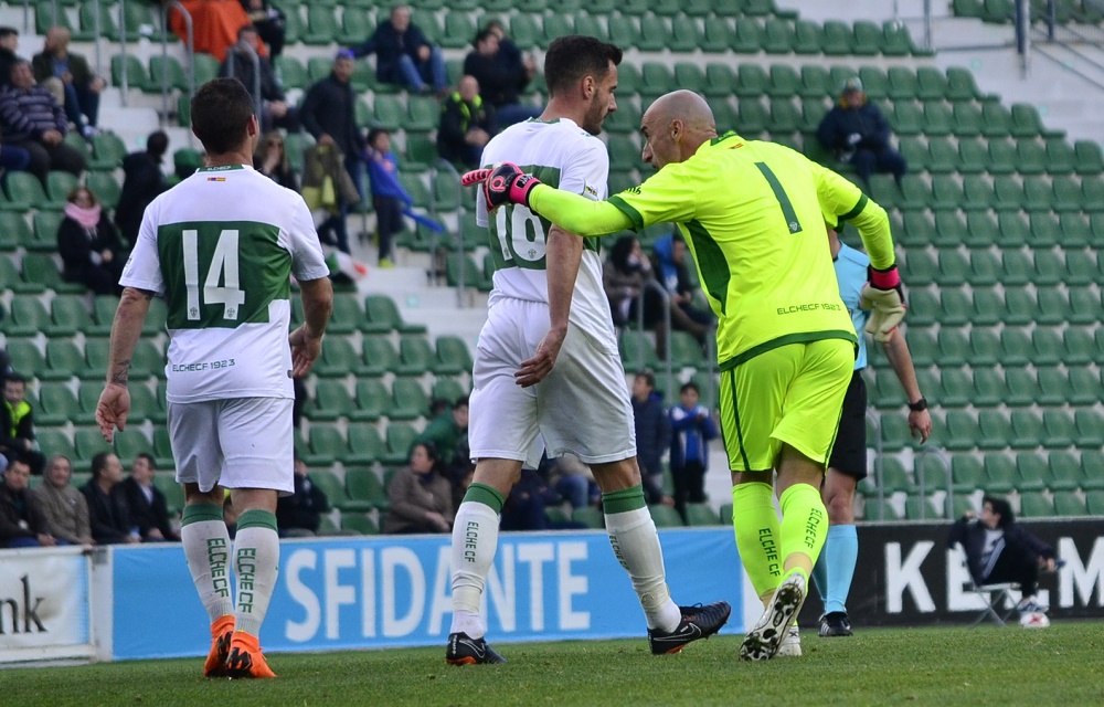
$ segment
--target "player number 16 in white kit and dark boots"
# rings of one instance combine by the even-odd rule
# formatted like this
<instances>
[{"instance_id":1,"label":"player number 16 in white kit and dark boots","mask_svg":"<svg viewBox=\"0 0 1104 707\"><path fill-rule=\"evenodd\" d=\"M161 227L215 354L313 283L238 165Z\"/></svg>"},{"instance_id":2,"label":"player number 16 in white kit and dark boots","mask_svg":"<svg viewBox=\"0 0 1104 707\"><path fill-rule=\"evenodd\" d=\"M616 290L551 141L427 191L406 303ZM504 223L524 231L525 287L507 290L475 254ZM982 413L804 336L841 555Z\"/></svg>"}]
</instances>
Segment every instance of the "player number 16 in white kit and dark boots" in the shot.
<instances>
[{"instance_id":1,"label":"player number 16 in white kit and dark boots","mask_svg":"<svg viewBox=\"0 0 1104 707\"><path fill-rule=\"evenodd\" d=\"M482 163L509 160L560 189L606 196L609 160L595 136L616 109L622 51L597 39L558 38L544 59L549 104L484 149ZM640 599L652 653L677 653L728 621L725 602L679 606L667 587L659 536L636 463L633 408L602 287L595 241L584 243L523 205L487 213L497 270L473 372L468 439L475 478L453 526L452 665L503 663L485 639L480 597L498 547L502 504L522 463L571 452L602 488L614 552Z\"/></svg>"}]
</instances>

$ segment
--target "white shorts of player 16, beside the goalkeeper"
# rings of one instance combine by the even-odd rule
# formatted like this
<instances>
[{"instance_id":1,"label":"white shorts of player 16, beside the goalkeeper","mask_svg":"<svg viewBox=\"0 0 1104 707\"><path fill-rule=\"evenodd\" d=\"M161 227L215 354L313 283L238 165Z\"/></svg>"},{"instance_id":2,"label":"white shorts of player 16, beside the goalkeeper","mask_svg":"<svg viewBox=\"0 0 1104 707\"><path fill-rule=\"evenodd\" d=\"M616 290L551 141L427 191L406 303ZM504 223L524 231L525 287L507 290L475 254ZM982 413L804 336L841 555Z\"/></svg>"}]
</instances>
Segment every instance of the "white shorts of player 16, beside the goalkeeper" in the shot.
<instances>
[{"instance_id":1,"label":"white shorts of player 16, beside the goalkeeper","mask_svg":"<svg viewBox=\"0 0 1104 707\"><path fill-rule=\"evenodd\" d=\"M473 458L535 467L538 434L550 457L570 452L603 464L636 456L633 404L615 344L569 324L555 368L537 386L521 388L513 374L548 334L548 305L502 299L487 316L469 400Z\"/></svg>"}]
</instances>

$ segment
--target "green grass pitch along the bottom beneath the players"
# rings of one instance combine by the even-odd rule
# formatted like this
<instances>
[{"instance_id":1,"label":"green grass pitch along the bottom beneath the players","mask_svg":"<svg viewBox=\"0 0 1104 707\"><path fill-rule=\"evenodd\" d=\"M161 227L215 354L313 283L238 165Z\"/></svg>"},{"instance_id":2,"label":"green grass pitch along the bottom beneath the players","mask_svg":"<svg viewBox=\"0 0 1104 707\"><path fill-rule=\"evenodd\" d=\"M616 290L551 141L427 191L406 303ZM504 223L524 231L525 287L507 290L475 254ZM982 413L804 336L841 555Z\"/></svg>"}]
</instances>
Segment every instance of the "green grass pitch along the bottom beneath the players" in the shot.
<instances>
[{"instance_id":1,"label":"green grass pitch along the bottom beneath the players","mask_svg":"<svg viewBox=\"0 0 1104 707\"><path fill-rule=\"evenodd\" d=\"M2 692L19 707L1104 704L1101 622L803 633L803 657L765 663L741 663L740 639L714 636L667 656L643 637L500 644L507 665L449 667L442 642L272 655L275 680L206 680L201 658L4 669Z\"/></svg>"}]
</instances>

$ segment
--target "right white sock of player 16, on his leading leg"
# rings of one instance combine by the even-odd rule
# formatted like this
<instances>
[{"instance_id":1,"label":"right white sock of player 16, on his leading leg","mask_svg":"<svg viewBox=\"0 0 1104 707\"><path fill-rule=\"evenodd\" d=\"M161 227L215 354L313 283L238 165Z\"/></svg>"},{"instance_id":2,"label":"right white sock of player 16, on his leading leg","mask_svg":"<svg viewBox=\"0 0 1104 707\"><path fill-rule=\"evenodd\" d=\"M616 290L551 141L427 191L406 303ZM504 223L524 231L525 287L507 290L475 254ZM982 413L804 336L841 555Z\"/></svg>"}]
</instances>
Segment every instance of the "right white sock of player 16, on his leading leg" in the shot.
<instances>
[{"instance_id":1,"label":"right white sock of player 16, on his leading leg","mask_svg":"<svg viewBox=\"0 0 1104 707\"><path fill-rule=\"evenodd\" d=\"M659 534L648 508L606 514L606 532L614 555L633 580L633 589L640 598L648 629L675 631L682 621L682 612L671 599L664 569L664 550Z\"/></svg>"}]
</instances>

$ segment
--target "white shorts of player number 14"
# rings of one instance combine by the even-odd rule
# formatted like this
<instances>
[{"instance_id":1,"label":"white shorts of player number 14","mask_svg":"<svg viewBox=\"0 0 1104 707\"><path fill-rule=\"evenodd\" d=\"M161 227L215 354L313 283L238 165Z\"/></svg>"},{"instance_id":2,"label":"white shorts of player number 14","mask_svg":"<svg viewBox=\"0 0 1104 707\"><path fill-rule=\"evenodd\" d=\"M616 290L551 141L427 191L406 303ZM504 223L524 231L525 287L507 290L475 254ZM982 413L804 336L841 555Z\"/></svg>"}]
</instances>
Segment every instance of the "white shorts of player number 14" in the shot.
<instances>
[{"instance_id":1,"label":"white shorts of player number 14","mask_svg":"<svg viewBox=\"0 0 1104 707\"><path fill-rule=\"evenodd\" d=\"M224 488L295 490L295 439L288 398L170 402L169 440L177 481L206 493Z\"/></svg>"}]
</instances>

